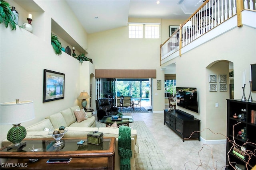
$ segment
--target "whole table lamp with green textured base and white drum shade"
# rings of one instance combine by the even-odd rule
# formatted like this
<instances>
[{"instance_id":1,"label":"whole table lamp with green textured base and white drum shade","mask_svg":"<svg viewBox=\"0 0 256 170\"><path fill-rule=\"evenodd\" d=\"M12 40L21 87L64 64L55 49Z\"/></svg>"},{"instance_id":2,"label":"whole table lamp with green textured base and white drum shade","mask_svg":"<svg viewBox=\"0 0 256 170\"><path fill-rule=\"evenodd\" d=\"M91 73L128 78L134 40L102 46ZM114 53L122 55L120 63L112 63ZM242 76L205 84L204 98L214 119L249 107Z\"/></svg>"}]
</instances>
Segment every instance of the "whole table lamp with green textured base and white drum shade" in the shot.
<instances>
[{"instance_id":1,"label":"whole table lamp with green textured base and white drum shade","mask_svg":"<svg viewBox=\"0 0 256 170\"><path fill-rule=\"evenodd\" d=\"M12 143L10 148L20 149L26 146L22 140L26 137L25 127L20 123L30 121L35 118L33 101L6 102L0 104L0 125L13 125L7 133L7 140Z\"/></svg>"}]
</instances>

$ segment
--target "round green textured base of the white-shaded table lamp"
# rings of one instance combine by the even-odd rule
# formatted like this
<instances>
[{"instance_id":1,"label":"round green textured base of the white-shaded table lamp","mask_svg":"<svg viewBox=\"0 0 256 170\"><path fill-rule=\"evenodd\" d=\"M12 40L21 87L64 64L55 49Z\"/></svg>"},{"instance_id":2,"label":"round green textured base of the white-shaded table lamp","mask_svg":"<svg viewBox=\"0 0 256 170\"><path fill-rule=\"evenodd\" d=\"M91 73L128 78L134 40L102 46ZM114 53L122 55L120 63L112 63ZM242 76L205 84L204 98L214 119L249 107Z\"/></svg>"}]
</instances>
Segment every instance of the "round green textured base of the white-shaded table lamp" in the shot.
<instances>
[{"instance_id":1,"label":"round green textured base of the white-shaded table lamp","mask_svg":"<svg viewBox=\"0 0 256 170\"><path fill-rule=\"evenodd\" d=\"M7 140L12 143L13 146L18 146L22 143L22 140L26 137L27 132L25 127L21 126L20 123L14 124L13 127L8 131Z\"/></svg>"}]
</instances>

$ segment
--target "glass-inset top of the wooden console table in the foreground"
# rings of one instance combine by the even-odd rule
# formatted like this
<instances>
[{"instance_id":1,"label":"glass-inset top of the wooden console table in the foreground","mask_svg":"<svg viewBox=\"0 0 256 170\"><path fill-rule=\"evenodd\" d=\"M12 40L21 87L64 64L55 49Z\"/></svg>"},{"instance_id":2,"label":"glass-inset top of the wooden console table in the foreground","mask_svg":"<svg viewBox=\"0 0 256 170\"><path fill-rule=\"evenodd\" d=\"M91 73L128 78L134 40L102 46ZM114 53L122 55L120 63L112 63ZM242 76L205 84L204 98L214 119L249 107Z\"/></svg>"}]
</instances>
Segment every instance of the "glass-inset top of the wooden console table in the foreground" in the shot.
<instances>
[{"instance_id":1,"label":"glass-inset top of the wooden console table in the foreground","mask_svg":"<svg viewBox=\"0 0 256 170\"><path fill-rule=\"evenodd\" d=\"M78 145L77 142L83 140L84 143ZM104 138L103 142L100 145L94 145L87 143L87 139L65 139L61 140L64 145L60 147L54 147L53 144L56 142L54 139L31 139L31 140L23 140L22 142L26 142L26 146L20 150L17 149L8 149L7 147L2 148L0 150L0 157L8 158L10 157L44 157L43 155L69 155L70 157L84 157L83 154L90 154L91 152L96 153L104 153L110 152L112 143L115 141L113 138ZM105 153L106 154L106 153ZM16 155L16 156L15 156ZM41 156L40 156L41 155ZM80 155L80 156L78 156ZM51 156L51 157L52 157ZM61 156L60 156L61 157Z\"/></svg>"}]
</instances>

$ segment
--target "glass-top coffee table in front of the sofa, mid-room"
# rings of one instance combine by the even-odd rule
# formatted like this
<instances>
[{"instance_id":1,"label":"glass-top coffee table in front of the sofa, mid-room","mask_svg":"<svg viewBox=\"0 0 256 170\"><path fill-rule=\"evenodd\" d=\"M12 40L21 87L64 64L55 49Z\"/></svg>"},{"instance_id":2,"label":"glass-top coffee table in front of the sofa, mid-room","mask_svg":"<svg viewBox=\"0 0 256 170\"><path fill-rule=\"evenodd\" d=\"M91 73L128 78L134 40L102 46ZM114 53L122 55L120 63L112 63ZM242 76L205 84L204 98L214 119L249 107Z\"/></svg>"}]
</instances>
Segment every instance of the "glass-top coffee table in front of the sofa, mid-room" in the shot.
<instances>
[{"instance_id":1,"label":"glass-top coffee table in front of the sofa, mid-room","mask_svg":"<svg viewBox=\"0 0 256 170\"><path fill-rule=\"evenodd\" d=\"M129 123L133 122L132 116L122 116L122 120L111 120L112 116L114 116L114 115L104 116L101 119L101 122L106 123L106 127L111 126L115 121L116 121L118 127L122 126L122 125L129 126Z\"/></svg>"}]
</instances>

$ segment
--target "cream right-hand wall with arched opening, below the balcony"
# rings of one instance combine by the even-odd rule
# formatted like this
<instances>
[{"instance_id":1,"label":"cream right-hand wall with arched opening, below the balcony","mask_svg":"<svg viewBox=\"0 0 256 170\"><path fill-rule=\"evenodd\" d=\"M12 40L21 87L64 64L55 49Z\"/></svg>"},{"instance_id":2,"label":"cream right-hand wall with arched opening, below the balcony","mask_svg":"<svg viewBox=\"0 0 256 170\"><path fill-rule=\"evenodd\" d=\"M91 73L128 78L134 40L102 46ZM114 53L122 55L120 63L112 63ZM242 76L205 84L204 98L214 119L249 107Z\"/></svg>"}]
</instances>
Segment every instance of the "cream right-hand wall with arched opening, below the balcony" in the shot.
<instances>
[{"instance_id":1,"label":"cream right-hand wall with arched opening, below the balcony","mask_svg":"<svg viewBox=\"0 0 256 170\"><path fill-rule=\"evenodd\" d=\"M215 133L226 135L226 113L228 92L219 91L219 74L229 75L227 61L234 63L234 98L242 97L242 72L246 69L246 97L249 96L249 72L250 64L256 63L255 56L255 29L244 25L236 27L227 33L208 41L182 54L181 57L163 64L167 66L176 63L176 82L177 86L192 86L198 90L199 113L195 113L181 107L184 110L201 120L200 129L210 128ZM209 74L217 75L217 92L209 92ZM229 79L227 80L227 85ZM228 86L229 89L229 86ZM252 98L256 98L252 92ZM215 103L219 107L215 107ZM214 135L209 130L201 133L205 140L225 139L222 135Z\"/></svg>"}]
</instances>

